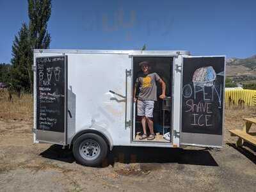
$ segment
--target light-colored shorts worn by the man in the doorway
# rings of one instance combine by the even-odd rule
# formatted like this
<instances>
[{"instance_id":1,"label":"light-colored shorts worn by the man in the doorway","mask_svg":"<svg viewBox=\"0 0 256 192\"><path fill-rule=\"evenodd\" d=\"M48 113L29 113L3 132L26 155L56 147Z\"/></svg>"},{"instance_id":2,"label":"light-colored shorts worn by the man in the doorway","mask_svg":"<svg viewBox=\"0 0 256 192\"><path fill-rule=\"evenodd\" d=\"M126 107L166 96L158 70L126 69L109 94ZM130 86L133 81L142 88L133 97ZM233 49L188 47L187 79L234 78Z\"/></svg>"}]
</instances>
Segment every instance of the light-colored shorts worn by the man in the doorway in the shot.
<instances>
[{"instance_id":1,"label":"light-colored shorts worn by the man in the doorway","mask_svg":"<svg viewBox=\"0 0 256 192\"><path fill-rule=\"evenodd\" d=\"M154 100L138 100L138 116L153 117Z\"/></svg>"}]
</instances>

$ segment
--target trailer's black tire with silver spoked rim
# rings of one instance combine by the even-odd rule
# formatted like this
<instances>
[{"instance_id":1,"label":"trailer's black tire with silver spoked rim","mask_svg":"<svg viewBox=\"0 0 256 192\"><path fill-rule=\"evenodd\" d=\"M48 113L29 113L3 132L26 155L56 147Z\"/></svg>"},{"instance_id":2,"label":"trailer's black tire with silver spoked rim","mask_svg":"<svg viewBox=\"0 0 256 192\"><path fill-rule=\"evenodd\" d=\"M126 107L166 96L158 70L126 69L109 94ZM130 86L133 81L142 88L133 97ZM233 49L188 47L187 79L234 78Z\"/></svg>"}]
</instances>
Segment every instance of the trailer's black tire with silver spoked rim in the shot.
<instances>
[{"instance_id":1,"label":"trailer's black tire with silver spoked rim","mask_svg":"<svg viewBox=\"0 0 256 192\"><path fill-rule=\"evenodd\" d=\"M73 154L79 164L99 166L108 154L108 145L101 136L86 133L74 141Z\"/></svg>"}]
</instances>

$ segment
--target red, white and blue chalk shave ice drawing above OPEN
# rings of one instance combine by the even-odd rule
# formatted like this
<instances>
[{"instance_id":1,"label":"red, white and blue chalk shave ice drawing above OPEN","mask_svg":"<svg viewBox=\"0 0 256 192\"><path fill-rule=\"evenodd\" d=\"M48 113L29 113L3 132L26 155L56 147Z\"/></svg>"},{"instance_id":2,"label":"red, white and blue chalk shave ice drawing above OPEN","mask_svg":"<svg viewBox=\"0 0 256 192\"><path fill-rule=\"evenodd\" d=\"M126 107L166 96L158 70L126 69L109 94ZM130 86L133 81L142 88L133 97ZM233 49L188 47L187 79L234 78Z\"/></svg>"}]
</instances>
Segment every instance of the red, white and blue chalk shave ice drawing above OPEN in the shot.
<instances>
[{"instance_id":1,"label":"red, white and blue chalk shave ice drawing above OPEN","mask_svg":"<svg viewBox=\"0 0 256 192\"><path fill-rule=\"evenodd\" d=\"M194 86L213 86L216 79L216 72L211 67L200 67L197 68L193 74L192 81Z\"/></svg>"}]
</instances>

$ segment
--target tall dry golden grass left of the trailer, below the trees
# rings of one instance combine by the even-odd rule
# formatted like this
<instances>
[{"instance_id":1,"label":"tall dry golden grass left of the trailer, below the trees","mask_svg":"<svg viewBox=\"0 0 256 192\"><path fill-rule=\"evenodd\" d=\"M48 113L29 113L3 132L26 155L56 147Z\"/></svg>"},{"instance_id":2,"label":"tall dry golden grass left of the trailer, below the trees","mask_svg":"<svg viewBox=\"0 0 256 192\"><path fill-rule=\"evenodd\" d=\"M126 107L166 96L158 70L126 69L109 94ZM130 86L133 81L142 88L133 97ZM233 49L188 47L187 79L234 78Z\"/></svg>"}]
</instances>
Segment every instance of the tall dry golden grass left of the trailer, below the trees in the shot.
<instances>
[{"instance_id":1,"label":"tall dry golden grass left of the trailer, below the trees","mask_svg":"<svg viewBox=\"0 0 256 192\"><path fill-rule=\"evenodd\" d=\"M33 97L23 94L21 98L13 95L12 101L8 100L8 92L0 92L0 118L14 120L33 120Z\"/></svg>"}]
</instances>

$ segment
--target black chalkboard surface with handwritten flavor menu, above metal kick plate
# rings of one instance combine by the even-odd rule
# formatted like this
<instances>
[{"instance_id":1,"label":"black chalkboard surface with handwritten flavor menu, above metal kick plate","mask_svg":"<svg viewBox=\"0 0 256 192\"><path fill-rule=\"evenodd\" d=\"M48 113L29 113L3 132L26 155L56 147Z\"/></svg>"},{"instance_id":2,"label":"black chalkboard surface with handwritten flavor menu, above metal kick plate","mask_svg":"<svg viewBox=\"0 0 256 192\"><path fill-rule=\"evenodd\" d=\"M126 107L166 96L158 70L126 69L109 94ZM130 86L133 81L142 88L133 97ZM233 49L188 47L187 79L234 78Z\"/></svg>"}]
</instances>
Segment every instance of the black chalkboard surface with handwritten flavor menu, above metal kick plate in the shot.
<instances>
[{"instance_id":1,"label":"black chalkboard surface with handwritten flavor menu, above metal kick plate","mask_svg":"<svg viewBox=\"0 0 256 192\"><path fill-rule=\"evenodd\" d=\"M66 56L36 58L36 129L65 132Z\"/></svg>"}]
</instances>

